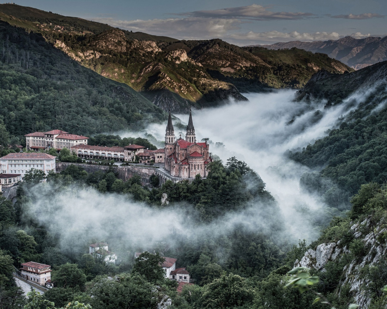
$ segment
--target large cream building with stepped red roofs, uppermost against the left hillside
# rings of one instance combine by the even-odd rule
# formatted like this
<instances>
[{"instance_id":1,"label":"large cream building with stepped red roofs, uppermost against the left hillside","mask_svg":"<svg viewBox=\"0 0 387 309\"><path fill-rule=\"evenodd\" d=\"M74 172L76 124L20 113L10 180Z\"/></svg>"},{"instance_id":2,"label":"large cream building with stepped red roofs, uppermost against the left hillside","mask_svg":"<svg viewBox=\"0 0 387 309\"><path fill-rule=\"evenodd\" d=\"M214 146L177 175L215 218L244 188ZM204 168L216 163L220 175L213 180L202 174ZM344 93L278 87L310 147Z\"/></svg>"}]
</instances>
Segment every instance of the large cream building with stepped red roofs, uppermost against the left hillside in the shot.
<instances>
[{"instance_id":1,"label":"large cream building with stepped red roofs, uppermost against the left hillside","mask_svg":"<svg viewBox=\"0 0 387 309\"><path fill-rule=\"evenodd\" d=\"M27 150L55 148L60 151L63 148L70 149L71 146L87 144L86 136L70 134L62 130L51 130L48 132L34 132L24 135L26 137Z\"/></svg>"}]
</instances>

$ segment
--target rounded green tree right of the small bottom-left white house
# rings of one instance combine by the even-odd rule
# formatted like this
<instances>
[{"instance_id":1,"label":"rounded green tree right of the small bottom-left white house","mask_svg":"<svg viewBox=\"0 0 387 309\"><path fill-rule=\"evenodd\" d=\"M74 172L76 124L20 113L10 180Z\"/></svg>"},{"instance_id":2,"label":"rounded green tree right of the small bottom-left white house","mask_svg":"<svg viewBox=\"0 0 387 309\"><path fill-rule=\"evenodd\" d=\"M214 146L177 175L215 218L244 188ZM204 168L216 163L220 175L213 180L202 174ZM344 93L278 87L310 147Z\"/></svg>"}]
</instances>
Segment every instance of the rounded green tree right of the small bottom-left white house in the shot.
<instances>
[{"instance_id":1,"label":"rounded green tree right of the small bottom-left white house","mask_svg":"<svg viewBox=\"0 0 387 309\"><path fill-rule=\"evenodd\" d=\"M52 271L51 278L58 287L83 287L86 275L78 268L78 264L66 263Z\"/></svg>"}]
</instances>

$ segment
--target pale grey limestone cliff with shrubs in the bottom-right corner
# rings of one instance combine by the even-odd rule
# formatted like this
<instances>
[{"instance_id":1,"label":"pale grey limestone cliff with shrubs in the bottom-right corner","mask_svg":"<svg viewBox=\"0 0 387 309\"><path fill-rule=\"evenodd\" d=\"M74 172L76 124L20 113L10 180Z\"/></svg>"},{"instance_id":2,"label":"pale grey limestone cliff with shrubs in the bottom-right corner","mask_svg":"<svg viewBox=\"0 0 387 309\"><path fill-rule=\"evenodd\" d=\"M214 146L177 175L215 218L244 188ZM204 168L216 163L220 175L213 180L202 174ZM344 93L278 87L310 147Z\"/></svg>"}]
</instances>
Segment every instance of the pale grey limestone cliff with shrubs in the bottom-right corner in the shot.
<instances>
[{"instance_id":1,"label":"pale grey limestone cliff with shrubs in the bottom-right corner","mask_svg":"<svg viewBox=\"0 0 387 309\"><path fill-rule=\"evenodd\" d=\"M314 268L321 272L328 262L343 264L342 275L337 285L336 293L341 295L343 289L351 294L354 302L362 309L367 309L378 289L375 289L375 278L369 270L380 268L385 264L387 257L384 218L374 222L375 217L368 216L362 222L353 223L348 236L353 240L343 246L343 241L322 243L315 249L309 249L296 266ZM343 263L344 261L344 263ZM385 274L378 274L385 277Z\"/></svg>"}]
</instances>

